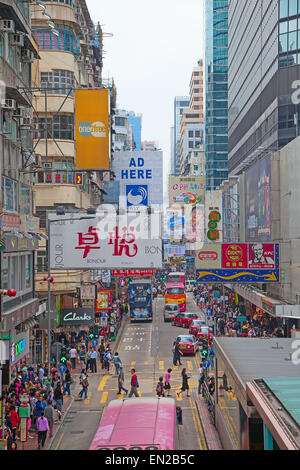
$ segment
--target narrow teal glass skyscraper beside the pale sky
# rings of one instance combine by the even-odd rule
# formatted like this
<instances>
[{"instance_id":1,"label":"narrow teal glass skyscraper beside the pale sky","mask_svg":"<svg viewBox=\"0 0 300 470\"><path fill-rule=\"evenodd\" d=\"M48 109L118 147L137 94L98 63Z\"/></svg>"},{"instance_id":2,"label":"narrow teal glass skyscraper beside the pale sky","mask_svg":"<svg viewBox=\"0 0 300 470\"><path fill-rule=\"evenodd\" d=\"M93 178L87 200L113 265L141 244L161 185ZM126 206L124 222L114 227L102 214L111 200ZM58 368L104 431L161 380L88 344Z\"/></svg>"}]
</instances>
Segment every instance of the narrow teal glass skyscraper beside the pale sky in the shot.
<instances>
[{"instance_id":1,"label":"narrow teal glass skyscraper beside the pale sky","mask_svg":"<svg viewBox=\"0 0 300 470\"><path fill-rule=\"evenodd\" d=\"M228 177L228 0L206 0L205 21L206 184L213 190Z\"/></svg>"}]
</instances>

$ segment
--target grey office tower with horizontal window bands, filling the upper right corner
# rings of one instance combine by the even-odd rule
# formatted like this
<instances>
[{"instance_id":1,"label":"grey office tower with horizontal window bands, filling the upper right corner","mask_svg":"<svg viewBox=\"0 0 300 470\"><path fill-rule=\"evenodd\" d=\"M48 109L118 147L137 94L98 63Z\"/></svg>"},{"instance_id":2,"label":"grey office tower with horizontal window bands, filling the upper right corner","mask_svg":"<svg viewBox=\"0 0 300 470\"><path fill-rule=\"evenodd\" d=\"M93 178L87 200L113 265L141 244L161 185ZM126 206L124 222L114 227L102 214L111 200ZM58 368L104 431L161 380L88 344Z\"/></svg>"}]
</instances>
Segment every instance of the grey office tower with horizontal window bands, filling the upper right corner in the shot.
<instances>
[{"instance_id":1,"label":"grey office tower with horizontal window bands, filling the upper right corner","mask_svg":"<svg viewBox=\"0 0 300 470\"><path fill-rule=\"evenodd\" d=\"M228 166L239 174L298 132L292 96L300 79L300 3L230 0L228 20Z\"/></svg>"}]
</instances>

